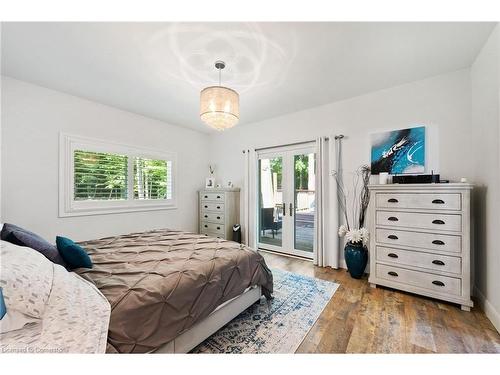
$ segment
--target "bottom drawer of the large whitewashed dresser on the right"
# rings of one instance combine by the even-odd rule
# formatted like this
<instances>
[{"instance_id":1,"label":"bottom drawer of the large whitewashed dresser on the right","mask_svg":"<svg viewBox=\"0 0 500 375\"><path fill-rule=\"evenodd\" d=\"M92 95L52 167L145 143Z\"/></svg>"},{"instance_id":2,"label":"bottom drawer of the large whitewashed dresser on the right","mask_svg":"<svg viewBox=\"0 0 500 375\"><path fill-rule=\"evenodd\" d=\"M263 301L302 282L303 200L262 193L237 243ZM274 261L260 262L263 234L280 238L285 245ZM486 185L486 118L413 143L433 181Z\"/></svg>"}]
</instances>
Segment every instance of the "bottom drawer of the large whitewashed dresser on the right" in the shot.
<instances>
[{"instance_id":1,"label":"bottom drawer of the large whitewashed dresser on the right","mask_svg":"<svg viewBox=\"0 0 500 375\"><path fill-rule=\"evenodd\" d=\"M443 294L461 295L461 279L412 271L400 267L376 265L377 278L432 290Z\"/></svg>"}]
</instances>

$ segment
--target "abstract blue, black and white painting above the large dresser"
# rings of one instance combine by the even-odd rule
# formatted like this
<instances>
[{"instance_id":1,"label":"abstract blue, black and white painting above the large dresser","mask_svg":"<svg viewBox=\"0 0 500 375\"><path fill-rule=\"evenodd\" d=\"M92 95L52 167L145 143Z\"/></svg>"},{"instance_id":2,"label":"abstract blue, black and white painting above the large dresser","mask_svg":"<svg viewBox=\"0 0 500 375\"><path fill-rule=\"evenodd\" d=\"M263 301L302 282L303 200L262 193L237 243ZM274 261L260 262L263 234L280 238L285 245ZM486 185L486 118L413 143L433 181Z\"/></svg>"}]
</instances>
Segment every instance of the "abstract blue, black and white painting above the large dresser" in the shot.
<instances>
[{"instance_id":1,"label":"abstract blue, black and white painting above the large dresser","mask_svg":"<svg viewBox=\"0 0 500 375\"><path fill-rule=\"evenodd\" d=\"M425 171L425 126L372 134L372 174Z\"/></svg>"}]
</instances>

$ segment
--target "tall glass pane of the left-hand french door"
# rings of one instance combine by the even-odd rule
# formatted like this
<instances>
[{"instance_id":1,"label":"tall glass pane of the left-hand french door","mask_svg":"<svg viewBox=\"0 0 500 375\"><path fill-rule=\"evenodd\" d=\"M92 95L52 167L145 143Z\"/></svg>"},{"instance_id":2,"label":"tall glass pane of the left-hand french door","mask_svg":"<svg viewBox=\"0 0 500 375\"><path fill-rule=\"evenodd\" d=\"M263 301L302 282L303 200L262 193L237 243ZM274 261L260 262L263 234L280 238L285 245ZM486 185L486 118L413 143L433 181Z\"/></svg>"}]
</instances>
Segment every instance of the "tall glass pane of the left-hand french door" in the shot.
<instances>
[{"instance_id":1,"label":"tall glass pane of the left-hand french door","mask_svg":"<svg viewBox=\"0 0 500 375\"><path fill-rule=\"evenodd\" d=\"M259 160L259 242L283 244L283 158Z\"/></svg>"}]
</instances>

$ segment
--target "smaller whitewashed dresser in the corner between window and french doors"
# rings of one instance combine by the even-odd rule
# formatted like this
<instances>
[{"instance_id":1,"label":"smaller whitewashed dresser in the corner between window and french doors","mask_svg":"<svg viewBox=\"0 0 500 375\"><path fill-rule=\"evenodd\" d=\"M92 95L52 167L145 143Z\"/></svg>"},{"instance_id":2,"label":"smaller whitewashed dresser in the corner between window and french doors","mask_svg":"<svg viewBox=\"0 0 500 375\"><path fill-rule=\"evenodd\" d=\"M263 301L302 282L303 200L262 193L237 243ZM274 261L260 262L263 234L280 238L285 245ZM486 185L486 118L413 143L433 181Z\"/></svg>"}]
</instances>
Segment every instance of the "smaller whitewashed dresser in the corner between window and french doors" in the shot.
<instances>
[{"instance_id":1,"label":"smaller whitewashed dresser in the corner between window and french doors","mask_svg":"<svg viewBox=\"0 0 500 375\"><path fill-rule=\"evenodd\" d=\"M240 189L204 189L199 191L200 233L232 239L233 225L240 217Z\"/></svg>"}]
</instances>

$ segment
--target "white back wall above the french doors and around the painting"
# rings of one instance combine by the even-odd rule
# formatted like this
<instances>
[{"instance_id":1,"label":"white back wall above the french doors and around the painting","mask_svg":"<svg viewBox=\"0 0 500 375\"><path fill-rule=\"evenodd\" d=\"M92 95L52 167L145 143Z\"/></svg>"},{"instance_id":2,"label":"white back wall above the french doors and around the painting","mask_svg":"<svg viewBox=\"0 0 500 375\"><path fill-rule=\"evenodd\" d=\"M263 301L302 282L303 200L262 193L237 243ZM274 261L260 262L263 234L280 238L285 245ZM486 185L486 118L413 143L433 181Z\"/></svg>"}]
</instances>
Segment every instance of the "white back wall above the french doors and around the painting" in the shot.
<instances>
[{"instance_id":1,"label":"white back wall above the french doors and around the painting","mask_svg":"<svg viewBox=\"0 0 500 375\"><path fill-rule=\"evenodd\" d=\"M370 133L423 124L428 170L452 180L470 178L473 160L464 157L471 149L470 102L470 72L460 70L218 133L211 136L211 162L218 181L243 186L243 149L344 134L347 175L369 163Z\"/></svg>"}]
</instances>

